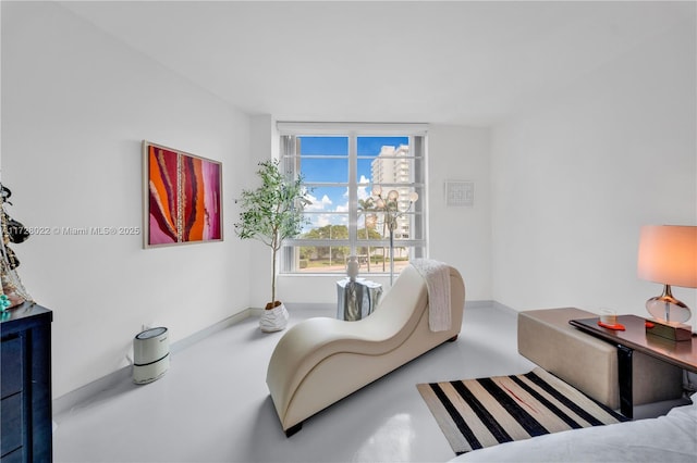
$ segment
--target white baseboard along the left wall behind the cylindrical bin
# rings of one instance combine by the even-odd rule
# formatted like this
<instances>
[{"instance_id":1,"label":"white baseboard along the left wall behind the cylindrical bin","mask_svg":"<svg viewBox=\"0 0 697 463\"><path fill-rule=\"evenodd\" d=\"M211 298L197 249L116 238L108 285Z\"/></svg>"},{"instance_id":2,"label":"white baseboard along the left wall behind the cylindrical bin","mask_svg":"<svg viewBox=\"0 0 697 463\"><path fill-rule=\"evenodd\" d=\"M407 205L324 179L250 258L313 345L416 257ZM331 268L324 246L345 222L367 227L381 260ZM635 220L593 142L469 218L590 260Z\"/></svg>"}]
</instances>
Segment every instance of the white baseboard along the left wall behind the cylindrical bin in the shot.
<instances>
[{"instance_id":1,"label":"white baseboard along the left wall behind the cylindrical bin","mask_svg":"<svg viewBox=\"0 0 697 463\"><path fill-rule=\"evenodd\" d=\"M193 335L187 336L184 339L180 339L179 341L173 342L170 346L170 353L174 354L176 352L180 352L187 347L193 346L196 342L211 336L212 334L223 330L236 323L240 323L249 316L259 316L261 314L261 311L262 309L248 308L240 313L231 315L228 318L224 318L216 323L215 325L209 326L208 328L204 328L200 331L194 333ZM82 386L75 390L72 390L61 397L53 399L53 415L56 416L61 413L68 412L78 404L88 403L91 398L97 395L103 396L107 391L111 392L110 395L118 395L132 387L138 387L133 384L132 366L123 366L115 372L108 374L107 376L102 376L99 379L96 379L85 386Z\"/></svg>"}]
</instances>

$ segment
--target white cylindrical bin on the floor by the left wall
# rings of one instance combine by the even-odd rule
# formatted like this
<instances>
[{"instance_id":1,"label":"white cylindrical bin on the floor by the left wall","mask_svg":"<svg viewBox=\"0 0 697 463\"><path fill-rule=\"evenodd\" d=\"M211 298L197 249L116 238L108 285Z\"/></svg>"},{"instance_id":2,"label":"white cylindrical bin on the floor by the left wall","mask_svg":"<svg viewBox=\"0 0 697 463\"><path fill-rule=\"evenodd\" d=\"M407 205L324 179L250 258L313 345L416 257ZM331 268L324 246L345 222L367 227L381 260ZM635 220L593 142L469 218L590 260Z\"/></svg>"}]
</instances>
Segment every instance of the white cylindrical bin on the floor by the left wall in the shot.
<instances>
[{"instance_id":1,"label":"white cylindrical bin on the floor by the left wall","mask_svg":"<svg viewBox=\"0 0 697 463\"><path fill-rule=\"evenodd\" d=\"M151 328L133 339L133 383L144 385L160 378L170 367L167 328Z\"/></svg>"}]
</instances>

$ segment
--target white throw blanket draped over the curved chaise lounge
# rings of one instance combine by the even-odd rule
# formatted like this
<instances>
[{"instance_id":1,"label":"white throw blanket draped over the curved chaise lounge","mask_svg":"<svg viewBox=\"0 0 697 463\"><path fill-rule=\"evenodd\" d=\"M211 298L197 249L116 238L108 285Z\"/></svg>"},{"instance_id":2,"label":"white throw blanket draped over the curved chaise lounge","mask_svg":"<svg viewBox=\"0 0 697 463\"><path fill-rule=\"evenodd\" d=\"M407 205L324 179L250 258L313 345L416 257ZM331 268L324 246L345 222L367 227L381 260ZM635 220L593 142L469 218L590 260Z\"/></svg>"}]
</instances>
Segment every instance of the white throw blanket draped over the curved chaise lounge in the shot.
<instances>
[{"instance_id":1,"label":"white throw blanket draped over the curved chaise lounge","mask_svg":"<svg viewBox=\"0 0 697 463\"><path fill-rule=\"evenodd\" d=\"M429 259L414 259L414 268L426 280L428 289L428 326L431 331L450 329L450 267Z\"/></svg>"}]
</instances>

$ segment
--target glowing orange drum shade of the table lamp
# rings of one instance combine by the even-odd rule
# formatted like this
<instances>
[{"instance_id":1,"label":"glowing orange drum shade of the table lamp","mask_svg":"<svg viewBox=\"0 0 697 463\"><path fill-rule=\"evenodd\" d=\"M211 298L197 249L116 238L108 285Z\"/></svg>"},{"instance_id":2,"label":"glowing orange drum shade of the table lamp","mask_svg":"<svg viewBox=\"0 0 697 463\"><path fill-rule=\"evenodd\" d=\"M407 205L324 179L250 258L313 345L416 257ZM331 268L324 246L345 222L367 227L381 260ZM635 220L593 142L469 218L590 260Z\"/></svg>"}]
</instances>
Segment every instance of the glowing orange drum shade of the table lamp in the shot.
<instances>
[{"instance_id":1,"label":"glowing orange drum shade of the table lamp","mask_svg":"<svg viewBox=\"0 0 697 463\"><path fill-rule=\"evenodd\" d=\"M637 274L649 281L697 288L697 226L641 227Z\"/></svg>"}]
</instances>

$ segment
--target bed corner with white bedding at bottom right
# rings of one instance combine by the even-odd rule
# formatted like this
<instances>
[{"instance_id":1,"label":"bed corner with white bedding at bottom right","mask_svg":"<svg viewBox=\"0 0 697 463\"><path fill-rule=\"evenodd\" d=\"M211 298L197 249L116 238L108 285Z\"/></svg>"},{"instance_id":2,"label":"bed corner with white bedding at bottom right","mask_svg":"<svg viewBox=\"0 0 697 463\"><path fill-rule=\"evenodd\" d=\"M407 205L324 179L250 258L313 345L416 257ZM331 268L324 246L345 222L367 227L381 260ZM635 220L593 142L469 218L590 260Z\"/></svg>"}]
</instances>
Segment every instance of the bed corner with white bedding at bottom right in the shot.
<instances>
[{"instance_id":1,"label":"bed corner with white bedding at bottom right","mask_svg":"<svg viewBox=\"0 0 697 463\"><path fill-rule=\"evenodd\" d=\"M501 443L451 462L697 462L697 393L665 416Z\"/></svg>"}]
</instances>

